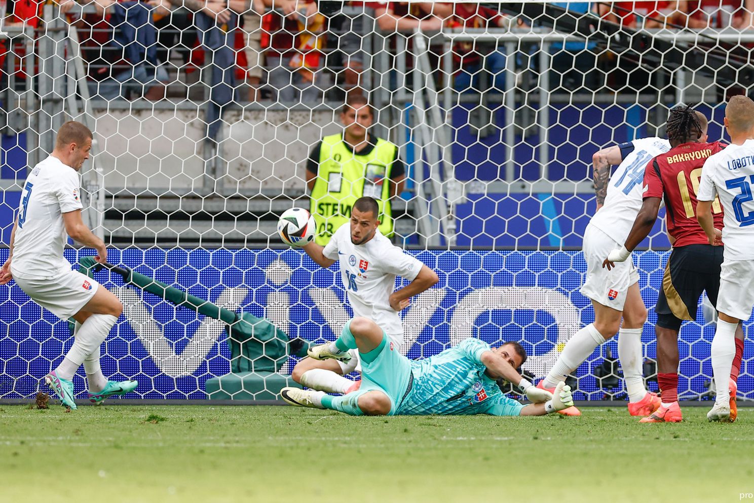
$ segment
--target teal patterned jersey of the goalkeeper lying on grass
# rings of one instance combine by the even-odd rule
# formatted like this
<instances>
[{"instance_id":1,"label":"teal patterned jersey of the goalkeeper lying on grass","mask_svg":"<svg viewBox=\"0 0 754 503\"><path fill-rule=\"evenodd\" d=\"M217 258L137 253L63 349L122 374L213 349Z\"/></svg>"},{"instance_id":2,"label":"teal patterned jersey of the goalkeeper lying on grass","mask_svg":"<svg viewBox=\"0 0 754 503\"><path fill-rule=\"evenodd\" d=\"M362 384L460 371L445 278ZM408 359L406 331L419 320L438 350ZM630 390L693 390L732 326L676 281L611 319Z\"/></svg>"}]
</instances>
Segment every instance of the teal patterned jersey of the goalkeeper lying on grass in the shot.
<instances>
[{"instance_id":1,"label":"teal patterned jersey of the goalkeeper lying on grass","mask_svg":"<svg viewBox=\"0 0 754 503\"><path fill-rule=\"evenodd\" d=\"M489 344L472 338L433 357L412 361L413 386L397 414L518 416L523 405L505 397L485 375L484 351L490 351Z\"/></svg>"}]
</instances>

